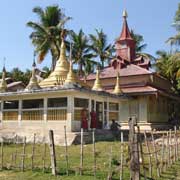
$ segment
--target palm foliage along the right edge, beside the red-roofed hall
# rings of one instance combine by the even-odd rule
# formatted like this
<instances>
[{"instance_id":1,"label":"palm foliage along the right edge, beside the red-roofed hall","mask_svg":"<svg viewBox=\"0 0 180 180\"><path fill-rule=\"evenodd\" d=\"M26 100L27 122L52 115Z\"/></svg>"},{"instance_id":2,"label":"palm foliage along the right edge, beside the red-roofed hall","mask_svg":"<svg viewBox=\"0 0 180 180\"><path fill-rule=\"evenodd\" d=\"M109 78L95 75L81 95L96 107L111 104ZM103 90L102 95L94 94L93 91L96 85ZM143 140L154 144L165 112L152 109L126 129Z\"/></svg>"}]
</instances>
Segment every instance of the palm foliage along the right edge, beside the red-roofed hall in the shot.
<instances>
[{"instance_id":1,"label":"palm foliage along the right edge, beside the red-roofed hall","mask_svg":"<svg viewBox=\"0 0 180 180\"><path fill-rule=\"evenodd\" d=\"M180 94L180 3L172 26L176 29L177 34L166 41L170 45L169 51L157 51L156 71L169 79L173 90Z\"/></svg>"}]
</instances>

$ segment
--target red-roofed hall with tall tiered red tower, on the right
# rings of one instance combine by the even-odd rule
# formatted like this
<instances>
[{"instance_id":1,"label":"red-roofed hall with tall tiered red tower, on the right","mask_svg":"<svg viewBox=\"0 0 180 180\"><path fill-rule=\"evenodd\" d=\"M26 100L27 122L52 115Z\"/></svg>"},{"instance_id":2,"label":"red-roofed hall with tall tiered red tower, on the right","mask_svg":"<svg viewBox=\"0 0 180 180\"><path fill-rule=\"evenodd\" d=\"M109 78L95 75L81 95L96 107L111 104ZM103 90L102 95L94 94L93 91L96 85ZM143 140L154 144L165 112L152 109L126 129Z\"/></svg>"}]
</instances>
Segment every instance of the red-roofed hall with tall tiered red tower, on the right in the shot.
<instances>
[{"instance_id":1,"label":"red-roofed hall with tall tiered red tower, on the right","mask_svg":"<svg viewBox=\"0 0 180 180\"><path fill-rule=\"evenodd\" d=\"M123 12L123 27L115 42L116 57L109 66L100 72L101 83L106 92L113 93L117 72L120 74L122 94L133 99L120 102L119 122L127 127L128 117L135 116L141 127L168 128L173 116L178 116L180 97L172 91L171 83L150 71L150 60L135 52L133 40L127 23L127 12ZM95 74L87 77L87 84L92 87ZM173 117L174 118L174 117Z\"/></svg>"}]
</instances>

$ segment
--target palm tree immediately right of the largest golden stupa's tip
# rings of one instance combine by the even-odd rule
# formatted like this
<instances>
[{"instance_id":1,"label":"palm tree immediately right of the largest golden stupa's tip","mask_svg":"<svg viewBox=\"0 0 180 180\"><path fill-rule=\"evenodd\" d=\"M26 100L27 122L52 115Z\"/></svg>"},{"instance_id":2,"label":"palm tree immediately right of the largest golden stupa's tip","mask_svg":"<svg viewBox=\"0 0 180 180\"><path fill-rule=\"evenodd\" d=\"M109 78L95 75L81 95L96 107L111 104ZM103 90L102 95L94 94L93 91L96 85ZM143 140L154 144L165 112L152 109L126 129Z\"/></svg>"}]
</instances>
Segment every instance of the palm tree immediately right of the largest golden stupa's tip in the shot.
<instances>
[{"instance_id":1,"label":"palm tree immediately right of the largest golden stupa's tip","mask_svg":"<svg viewBox=\"0 0 180 180\"><path fill-rule=\"evenodd\" d=\"M93 67L93 64L96 63L91 60L93 54L90 52L89 40L81 29L78 33L71 31L70 41L73 44L72 59L74 63L78 65L79 76L82 76L83 70L85 70L89 64Z\"/></svg>"}]
</instances>

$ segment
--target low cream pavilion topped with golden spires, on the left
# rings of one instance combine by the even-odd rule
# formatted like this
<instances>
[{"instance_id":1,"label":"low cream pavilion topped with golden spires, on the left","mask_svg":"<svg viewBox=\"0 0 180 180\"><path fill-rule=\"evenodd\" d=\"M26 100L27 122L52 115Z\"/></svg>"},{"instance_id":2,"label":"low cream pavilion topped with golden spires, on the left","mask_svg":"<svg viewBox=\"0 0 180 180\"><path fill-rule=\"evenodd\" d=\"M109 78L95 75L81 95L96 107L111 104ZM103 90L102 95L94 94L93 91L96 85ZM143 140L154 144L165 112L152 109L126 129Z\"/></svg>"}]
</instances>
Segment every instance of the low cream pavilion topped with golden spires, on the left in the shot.
<instances>
[{"instance_id":1,"label":"low cream pavilion topped with golden spires, on the left","mask_svg":"<svg viewBox=\"0 0 180 180\"><path fill-rule=\"evenodd\" d=\"M120 102L128 101L119 92L111 94L103 90L99 69L92 88L79 80L71 60L66 58L64 37L60 57L49 77L39 83L35 69L36 64L33 62L29 84L23 90L13 92L7 89L6 71L3 68L0 84L2 130L48 132L48 129L62 131L66 126L69 132L80 131L84 109L87 119L90 119L92 109L96 111L97 128L102 129L109 119L118 120Z\"/></svg>"}]
</instances>

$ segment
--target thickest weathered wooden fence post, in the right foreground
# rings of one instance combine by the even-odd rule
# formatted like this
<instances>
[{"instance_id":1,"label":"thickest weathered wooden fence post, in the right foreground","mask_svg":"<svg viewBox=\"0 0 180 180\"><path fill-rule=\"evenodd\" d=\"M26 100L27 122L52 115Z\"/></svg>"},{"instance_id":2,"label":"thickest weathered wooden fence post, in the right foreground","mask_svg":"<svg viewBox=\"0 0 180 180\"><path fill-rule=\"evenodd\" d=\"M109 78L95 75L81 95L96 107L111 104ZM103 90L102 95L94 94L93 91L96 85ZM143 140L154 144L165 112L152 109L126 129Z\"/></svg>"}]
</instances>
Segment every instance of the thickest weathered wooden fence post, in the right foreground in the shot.
<instances>
[{"instance_id":1,"label":"thickest weathered wooden fence post, in the right foreground","mask_svg":"<svg viewBox=\"0 0 180 180\"><path fill-rule=\"evenodd\" d=\"M130 174L131 180L140 180L139 148L135 125L135 118L129 118Z\"/></svg>"}]
</instances>

